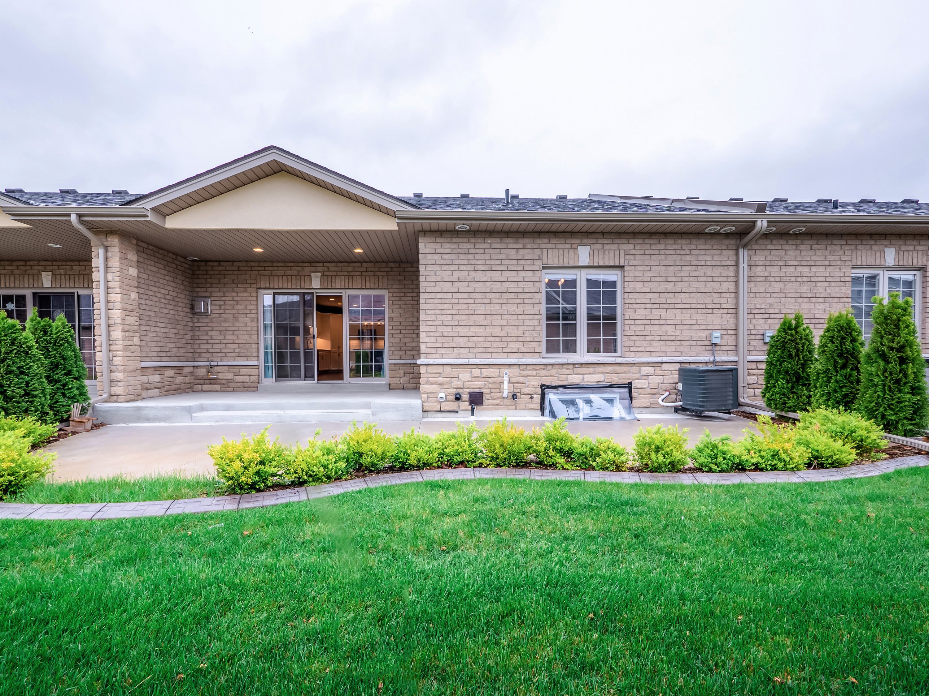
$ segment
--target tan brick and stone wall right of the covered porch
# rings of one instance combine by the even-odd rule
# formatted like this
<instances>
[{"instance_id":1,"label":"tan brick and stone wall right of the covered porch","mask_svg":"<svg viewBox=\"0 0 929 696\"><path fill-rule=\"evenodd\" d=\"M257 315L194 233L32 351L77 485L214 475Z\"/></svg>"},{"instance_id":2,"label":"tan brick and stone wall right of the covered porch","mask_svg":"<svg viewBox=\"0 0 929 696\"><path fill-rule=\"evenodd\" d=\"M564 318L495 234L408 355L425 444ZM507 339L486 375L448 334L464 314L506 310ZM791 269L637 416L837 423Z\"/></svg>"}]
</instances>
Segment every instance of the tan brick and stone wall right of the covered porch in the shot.
<instances>
[{"instance_id":1,"label":"tan brick and stone wall right of the covered porch","mask_svg":"<svg viewBox=\"0 0 929 696\"><path fill-rule=\"evenodd\" d=\"M786 234L757 241L750 251L750 398L760 398L763 386L764 362L751 357L764 356L765 329L777 329L784 313L799 311L818 335L830 312L848 306L853 266L883 267L884 248L895 247L895 267L924 268L927 241L925 235ZM709 357L711 330L723 333L717 355L736 354L738 242L718 234L422 233L421 356L437 363L421 366L424 410L456 410L451 401L439 403L438 392L450 400L462 392L466 402L468 391L483 391L488 409L537 410L541 383L630 380L636 407L661 407L661 393L676 392L678 367L708 363L649 358ZM543 266L577 265L579 244L591 246L588 269L623 269L622 356L633 361L566 358L558 364L543 357ZM922 326L927 316L923 302ZM924 332L923 343L929 344ZM517 362L525 358L537 364ZM462 359L484 364L454 364ZM518 394L515 403L502 399L504 370Z\"/></svg>"}]
</instances>

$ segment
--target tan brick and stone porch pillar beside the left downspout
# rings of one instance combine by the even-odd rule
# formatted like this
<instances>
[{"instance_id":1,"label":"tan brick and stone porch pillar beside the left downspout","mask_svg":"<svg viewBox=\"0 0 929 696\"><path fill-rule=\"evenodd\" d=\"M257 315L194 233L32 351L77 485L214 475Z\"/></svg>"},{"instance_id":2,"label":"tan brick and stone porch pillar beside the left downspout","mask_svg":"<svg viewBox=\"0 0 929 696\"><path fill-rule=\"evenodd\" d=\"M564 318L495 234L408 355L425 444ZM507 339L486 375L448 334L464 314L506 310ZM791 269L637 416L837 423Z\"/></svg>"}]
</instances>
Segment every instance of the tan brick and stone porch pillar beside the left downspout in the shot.
<instances>
[{"instance_id":1,"label":"tan brick and stone porch pillar beside the left downspout","mask_svg":"<svg viewBox=\"0 0 929 696\"><path fill-rule=\"evenodd\" d=\"M110 313L110 401L137 401L142 395L141 348L138 335L138 261L136 238L124 232L101 230L107 245L107 292ZM97 247L94 248L94 303L99 306L100 282ZM99 310L95 313L99 326ZM102 369L98 333L97 366ZM98 389L103 380L98 380Z\"/></svg>"}]
</instances>

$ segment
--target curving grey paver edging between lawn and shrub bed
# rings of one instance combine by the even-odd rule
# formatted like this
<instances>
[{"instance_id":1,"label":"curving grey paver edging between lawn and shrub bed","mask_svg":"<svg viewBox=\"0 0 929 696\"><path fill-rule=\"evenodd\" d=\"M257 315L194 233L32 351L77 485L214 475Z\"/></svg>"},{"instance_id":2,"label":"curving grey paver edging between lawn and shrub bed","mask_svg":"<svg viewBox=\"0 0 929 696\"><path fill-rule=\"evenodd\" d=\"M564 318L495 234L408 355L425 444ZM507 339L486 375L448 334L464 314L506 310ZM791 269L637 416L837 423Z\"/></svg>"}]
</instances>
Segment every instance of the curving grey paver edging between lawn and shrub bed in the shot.
<instances>
[{"instance_id":1,"label":"curving grey paver edging between lawn and shrub bed","mask_svg":"<svg viewBox=\"0 0 929 696\"><path fill-rule=\"evenodd\" d=\"M561 471L544 469L431 469L377 474L361 479L283 491L247 493L241 496L194 497L184 500L150 500L136 503L0 503L0 520L115 520L129 517L163 517L184 512L215 512L229 509L267 508L317 497L337 496L361 488L398 483L449 481L453 479L534 479L614 483L813 483L839 481L910 467L929 466L929 456L915 455L859 464L841 469L803 471L742 471L738 473L648 473L626 471Z\"/></svg>"}]
</instances>

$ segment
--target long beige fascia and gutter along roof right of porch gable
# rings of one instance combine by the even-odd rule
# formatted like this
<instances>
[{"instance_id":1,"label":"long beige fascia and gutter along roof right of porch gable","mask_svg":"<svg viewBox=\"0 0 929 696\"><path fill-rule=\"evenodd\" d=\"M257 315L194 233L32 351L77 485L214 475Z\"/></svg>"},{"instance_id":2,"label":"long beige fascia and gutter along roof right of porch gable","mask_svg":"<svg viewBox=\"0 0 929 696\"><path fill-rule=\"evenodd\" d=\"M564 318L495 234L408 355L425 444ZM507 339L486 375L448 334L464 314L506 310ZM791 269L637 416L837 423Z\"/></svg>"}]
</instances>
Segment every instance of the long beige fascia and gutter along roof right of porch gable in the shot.
<instances>
[{"instance_id":1,"label":"long beige fascia and gutter along roof right of porch gable","mask_svg":"<svg viewBox=\"0 0 929 696\"><path fill-rule=\"evenodd\" d=\"M476 223L753 223L767 220L770 225L929 225L929 215L842 215L828 213L548 213L533 211L435 211L418 210L397 213L398 220Z\"/></svg>"}]
</instances>

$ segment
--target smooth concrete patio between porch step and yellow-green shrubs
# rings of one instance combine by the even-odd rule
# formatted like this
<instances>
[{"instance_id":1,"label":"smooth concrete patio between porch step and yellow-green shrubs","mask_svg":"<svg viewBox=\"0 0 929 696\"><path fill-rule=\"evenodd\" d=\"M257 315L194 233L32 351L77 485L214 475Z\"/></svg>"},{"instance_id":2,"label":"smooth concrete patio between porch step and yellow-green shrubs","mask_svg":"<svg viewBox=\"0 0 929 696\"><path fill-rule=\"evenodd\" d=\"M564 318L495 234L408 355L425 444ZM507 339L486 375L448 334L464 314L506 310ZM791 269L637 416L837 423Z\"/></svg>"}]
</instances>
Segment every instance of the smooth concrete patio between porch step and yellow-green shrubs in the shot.
<instances>
[{"instance_id":1,"label":"smooth concrete patio between porch step and yellow-green shrubs","mask_svg":"<svg viewBox=\"0 0 929 696\"><path fill-rule=\"evenodd\" d=\"M418 392L413 392L419 395ZM186 394L185 394L186 395ZM171 398L171 397L163 397ZM135 402L136 404L141 402ZM131 404L126 405L131 406ZM390 434L409 431L434 434L454 430L458 422L475 423L483 428L494 418L477 419L410 419L379 422L378 426ZM361 420L361 419L360 419ZM513 419L519 427L531 429L550 422L542 418ZM612 437L618 443L631 447L632 436L640 426L657 423L677 424L689 428L687 436L693 445L700 438L703 428L714 436L729 434L739 437L743 428L753 427L751 420L738 416L713 416L698 418L679 414L644 414L641 420L605 420L599 422L569 422L569 431L591 437ZM213 462L206 454L209 445L222 442L222 438L238 439L242 432L251 435L261 431L265 423L167 423L108 425L96 431L82 432L54 445L46 447L55 452L55 481L77 481L104 476L142 476L154 473L178 473L183 475L213 474ZM270 427L271 437L280 437L282 443L306 442L313 433L321 430L320 437L339 435L351 427L347 422L289 422L274 423Z\"/></svg>"}]
</instances>

